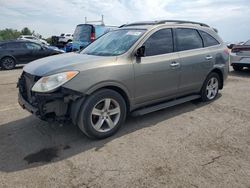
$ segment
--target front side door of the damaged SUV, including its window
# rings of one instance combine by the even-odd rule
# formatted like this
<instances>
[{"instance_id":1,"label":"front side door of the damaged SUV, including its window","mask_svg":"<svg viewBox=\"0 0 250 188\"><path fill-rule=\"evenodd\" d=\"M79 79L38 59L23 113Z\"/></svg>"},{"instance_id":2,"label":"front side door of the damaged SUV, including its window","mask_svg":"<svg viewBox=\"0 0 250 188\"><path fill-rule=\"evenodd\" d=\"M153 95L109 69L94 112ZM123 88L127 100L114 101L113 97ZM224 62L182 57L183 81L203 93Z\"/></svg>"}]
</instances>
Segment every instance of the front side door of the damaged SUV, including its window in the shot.
<instances>
[{"instance_id":1,"label":"front side door of the damaged SUV, including its window","mask_svg":"<svg viewBox=\"0 0 250 188\"><path fill-rule=\"evenodd\" d=\"M180 68L172 29L154 32L142 46L145 46L145 55L134 62L136 103L173 98Z\"/></svg>"}]
</instances>

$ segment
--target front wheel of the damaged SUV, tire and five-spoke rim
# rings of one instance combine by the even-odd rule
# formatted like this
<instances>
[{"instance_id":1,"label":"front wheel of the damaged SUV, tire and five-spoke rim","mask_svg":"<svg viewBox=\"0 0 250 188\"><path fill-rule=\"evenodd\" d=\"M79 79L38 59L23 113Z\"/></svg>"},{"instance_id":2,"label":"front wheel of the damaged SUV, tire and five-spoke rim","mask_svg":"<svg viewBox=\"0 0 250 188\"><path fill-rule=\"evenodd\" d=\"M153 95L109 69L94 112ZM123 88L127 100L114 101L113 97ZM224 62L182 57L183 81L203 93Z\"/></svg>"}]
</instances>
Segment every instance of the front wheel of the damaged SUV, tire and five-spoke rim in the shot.
<instances>
[{"instance_id":1,"label":"front wheel of the damaged SUV, tire and five-spoke rim","mask_svg":"<svg viewBox=\"0 0 250 188\"><path fill-rule=\"evenodd\" d=\"M123 97L110 89L91 94L84 102L79 128L90 138L103 139L115 134L126 119Z\"/></svg>"}]
</instances>

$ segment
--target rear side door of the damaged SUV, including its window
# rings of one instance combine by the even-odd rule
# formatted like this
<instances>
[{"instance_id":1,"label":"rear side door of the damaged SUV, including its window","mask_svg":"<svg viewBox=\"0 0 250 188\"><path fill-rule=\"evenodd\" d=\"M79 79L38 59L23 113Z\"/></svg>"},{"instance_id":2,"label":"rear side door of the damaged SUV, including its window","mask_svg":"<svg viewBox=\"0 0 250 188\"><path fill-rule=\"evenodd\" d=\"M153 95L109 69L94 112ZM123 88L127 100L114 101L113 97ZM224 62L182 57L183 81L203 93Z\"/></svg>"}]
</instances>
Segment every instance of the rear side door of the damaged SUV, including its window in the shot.
<instances>
[{"instance_id":1,"label":"rear side door of the damaged SUV, including its window","mask_svg":"<svg viewBox=\"0 0 250 188\"><path fill-rule=\"evenodd\" d=\"M198 92L213 67L213 57L209 49L203 48L199 32L192 28L175 29L176 48L180 62L180 95Z\"/></svg>"}]
</instances>

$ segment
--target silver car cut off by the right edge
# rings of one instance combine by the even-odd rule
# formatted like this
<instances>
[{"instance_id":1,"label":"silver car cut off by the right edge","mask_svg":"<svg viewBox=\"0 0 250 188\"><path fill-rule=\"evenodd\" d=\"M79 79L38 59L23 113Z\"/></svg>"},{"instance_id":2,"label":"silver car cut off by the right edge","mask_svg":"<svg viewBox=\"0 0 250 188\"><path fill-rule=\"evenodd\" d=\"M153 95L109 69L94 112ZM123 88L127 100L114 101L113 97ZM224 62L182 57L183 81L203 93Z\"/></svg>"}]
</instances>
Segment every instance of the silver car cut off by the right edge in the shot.
<instances>
[{"instance_id":1,"label":"silver car cut off by the right edge","mask_svg":"<svg viewBox=\"0 0 250 188\"><path fill-rule=\"evenodd\" d=\"M250 40L233 47L230 63L235 71L241 71L244 67L250 68Z\"/></svg>"}]
</instances>

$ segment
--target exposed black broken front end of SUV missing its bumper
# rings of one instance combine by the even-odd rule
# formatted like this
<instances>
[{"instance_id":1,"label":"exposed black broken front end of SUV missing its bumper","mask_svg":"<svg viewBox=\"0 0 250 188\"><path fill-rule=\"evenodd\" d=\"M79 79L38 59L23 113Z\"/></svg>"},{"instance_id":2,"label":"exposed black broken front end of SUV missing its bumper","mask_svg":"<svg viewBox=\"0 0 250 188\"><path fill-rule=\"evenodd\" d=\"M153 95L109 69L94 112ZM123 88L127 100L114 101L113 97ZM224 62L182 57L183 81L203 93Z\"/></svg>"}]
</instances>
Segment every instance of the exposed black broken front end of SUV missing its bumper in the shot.
<instances>
[{"instance_id":1,"label":"exposed black broken front end of SUV missing its bumper","mask_svg":"<svg viewBox=\"0 0 250 188\"><path fill-rule=\"evenodd\" d=\"M31 89L39 79L38 76L22 73L17 84L20 106L44 121L71 121L76 124L83 94L63 87L51 93L33 92Z\"/></svg>"}]
</instances>

